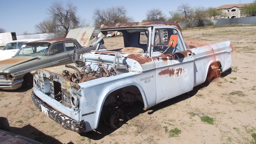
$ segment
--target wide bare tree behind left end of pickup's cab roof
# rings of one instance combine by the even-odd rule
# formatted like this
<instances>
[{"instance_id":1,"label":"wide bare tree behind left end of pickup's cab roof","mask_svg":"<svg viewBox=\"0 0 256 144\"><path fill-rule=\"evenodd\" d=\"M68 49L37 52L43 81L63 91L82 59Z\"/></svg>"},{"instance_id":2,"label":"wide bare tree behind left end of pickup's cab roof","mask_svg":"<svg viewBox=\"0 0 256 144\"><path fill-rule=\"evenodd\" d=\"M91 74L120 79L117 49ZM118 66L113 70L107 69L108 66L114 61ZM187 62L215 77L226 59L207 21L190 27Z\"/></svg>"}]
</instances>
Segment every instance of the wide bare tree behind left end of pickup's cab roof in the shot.
<instances>
[{"instance_id":1,"label":"wide bare tree behind left end of pickup's cab roof","mask_svg":"<svg viewBox=\"0 0 256 144\"><path fill-rule=\"evenodd\" d=\"M126 15L127 10L123 6L112 6L107 9L94 9L92 19L94 26L99 28L101 24L116 24L130 22L133 19Z\"/></svg>"}]
</instances>

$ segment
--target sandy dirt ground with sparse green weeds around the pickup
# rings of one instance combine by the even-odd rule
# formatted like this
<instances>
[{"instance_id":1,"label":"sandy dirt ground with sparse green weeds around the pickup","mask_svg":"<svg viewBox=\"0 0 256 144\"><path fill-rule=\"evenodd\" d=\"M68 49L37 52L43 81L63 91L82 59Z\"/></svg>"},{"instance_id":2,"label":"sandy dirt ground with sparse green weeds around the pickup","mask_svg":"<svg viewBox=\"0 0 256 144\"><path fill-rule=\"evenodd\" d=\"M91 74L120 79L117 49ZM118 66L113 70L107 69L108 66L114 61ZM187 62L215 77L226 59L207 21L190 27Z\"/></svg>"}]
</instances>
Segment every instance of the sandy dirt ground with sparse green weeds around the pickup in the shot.
<instances>
[{"instance_id":1,"label":"sandy dirt ground with sparse green weeds around the pickup","mask_svg":"<svg viewBox=\"0 0 256 144\"><path fill-rule=\"evenodd\" d=\"M42 143L255 143L255 31L256 26L184 29L191 45L230 40L231 69L146 111L134 105L116 130L104 124L83 134L64 129L34 106L32 89L0 90L0 116L8 118L11 132Z\"/></svg>"}]
</instances>

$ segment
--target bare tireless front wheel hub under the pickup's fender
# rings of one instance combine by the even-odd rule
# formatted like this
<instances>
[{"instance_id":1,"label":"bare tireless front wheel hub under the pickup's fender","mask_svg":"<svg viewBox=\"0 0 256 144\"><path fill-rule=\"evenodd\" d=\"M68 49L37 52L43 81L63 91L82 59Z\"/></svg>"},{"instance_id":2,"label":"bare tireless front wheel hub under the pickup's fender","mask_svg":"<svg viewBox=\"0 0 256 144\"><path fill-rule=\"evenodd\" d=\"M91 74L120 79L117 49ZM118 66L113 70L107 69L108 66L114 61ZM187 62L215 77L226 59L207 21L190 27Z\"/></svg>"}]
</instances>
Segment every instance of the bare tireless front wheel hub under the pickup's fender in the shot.
<instances>
[{"instance_id":1,"label":"bare tireless front wheel hub under the pickup's fender","mask_svg":"<svg viewBox=\"0 0 256 144\"><path fill-rule=\"evenodd\" d=\"M119 128L124 119L124 113L122 109L113 109L113 111L110 113L109 117L109 125L111 128Z\"/></svg>"}]
</instances>

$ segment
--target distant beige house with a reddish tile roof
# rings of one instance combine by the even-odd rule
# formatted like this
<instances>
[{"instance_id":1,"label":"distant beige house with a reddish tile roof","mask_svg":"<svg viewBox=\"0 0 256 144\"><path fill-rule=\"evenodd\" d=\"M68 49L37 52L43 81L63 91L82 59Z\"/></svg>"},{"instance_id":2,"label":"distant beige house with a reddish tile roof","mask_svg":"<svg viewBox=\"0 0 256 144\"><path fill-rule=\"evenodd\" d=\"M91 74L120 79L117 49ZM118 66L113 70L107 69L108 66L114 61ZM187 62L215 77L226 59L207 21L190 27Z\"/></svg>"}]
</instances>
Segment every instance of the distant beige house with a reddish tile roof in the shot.
<instances>
[{"instance_id":1,"label":"distant beige house with a reddish tile roof","mask_svg":"<svg viewBox=\"0 0 256 144\"><path fill-rule=\"evenodd\" d=\"M245 4L250 4L250 3L240 3L240 4L225 4L216 7L216 10L221 10L221 14L217 18L239 18L239 17L244 17L244 15L241 12L242 7Z\"/></svg>"}]
</instances>

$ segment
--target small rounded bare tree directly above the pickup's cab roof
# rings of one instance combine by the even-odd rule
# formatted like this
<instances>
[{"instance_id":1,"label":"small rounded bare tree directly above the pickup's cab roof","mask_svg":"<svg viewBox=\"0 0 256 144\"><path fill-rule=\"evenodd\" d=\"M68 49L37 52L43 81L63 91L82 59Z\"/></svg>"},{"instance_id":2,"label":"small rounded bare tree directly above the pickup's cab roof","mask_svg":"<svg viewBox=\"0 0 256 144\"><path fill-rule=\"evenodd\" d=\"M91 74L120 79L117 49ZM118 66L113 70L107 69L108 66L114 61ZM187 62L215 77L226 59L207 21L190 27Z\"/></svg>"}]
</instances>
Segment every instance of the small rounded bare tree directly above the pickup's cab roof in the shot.
<instances>
[{"instance_id":1,"label":"small rounded bare tree directly above the pickup's cab roof","mask_svg":"<svg viewBox=\"0 0 256 144\"><path fill-rule=\"evenodd\" d=\"M152 8L146 13L146 21L165 21L165 15L158 8Z\"/></svg>"}]
</instances>

